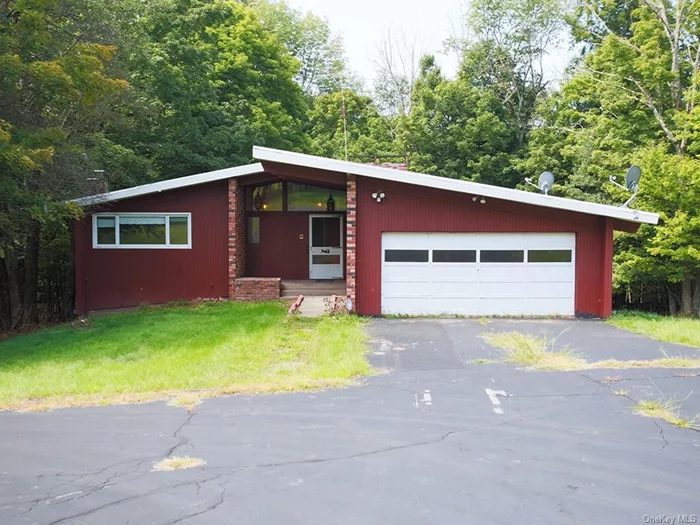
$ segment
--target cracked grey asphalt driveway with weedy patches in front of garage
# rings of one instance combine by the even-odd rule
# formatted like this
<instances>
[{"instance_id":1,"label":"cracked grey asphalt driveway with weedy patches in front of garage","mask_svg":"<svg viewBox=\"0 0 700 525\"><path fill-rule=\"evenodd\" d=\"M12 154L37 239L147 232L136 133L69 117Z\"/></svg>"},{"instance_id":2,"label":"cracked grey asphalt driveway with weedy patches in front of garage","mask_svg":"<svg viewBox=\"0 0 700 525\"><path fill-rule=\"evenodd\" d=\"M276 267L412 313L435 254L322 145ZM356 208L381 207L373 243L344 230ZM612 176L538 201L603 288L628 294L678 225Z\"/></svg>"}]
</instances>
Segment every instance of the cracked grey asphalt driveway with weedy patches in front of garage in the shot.
<instances>
[{"instance_id":1,"label":"cracked grey asphalt driveway with weedy patches in front of garage","mask_svg":"<svg viewBox=\"0 0 700 525\"><path fill-rule=\"evenodd\" d=\"M499 355L484 331L511 330L557 337L590 359L697 351L594 321L377 320L370 359L387 373L357 387L211 399L193 414L164 403L0 413L0 524L678 523L700 515L700 433L636 415L612 392L675 397L694 415L698 377L474 364ZM206 465L153 471L172 455Z\"/></svg>"}]
</instances>

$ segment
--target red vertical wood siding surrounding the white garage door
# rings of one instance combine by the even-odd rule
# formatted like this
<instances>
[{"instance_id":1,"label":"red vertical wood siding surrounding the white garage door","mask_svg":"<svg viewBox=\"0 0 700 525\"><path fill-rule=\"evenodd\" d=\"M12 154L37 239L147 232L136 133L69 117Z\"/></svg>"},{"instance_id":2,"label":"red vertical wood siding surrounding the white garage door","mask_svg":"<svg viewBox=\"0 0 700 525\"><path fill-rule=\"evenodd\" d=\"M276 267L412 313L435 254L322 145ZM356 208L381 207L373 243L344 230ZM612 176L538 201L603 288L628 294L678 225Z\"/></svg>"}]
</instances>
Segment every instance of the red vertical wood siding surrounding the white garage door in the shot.
<instances>
[{"instance_id":1,"label":"red vertical wood siding surrounding the white garage door","mask_svg":"<svg viewBox=\"0 0 700 525\"><path fill-rule=\"evenodd\" d=\"M383 232L574 232L580 315L610 315L612 237L604 218L407 184L357 178L357 310L381 313ZM386 193L377 203L371 194ZM612 231L612 223L608 221ZM610 286L606 283L610 281Z\"/></svg>"}]
</instances>

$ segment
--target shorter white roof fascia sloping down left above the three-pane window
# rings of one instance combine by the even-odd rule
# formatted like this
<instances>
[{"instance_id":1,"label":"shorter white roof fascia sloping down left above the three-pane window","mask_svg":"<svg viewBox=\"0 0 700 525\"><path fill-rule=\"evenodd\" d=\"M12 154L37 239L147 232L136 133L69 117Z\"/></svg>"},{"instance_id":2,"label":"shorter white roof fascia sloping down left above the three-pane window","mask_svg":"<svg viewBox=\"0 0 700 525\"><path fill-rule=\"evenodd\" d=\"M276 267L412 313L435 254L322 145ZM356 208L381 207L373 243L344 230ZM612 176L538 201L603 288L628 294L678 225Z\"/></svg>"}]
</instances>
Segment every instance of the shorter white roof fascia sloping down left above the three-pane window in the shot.
<instances>
[{"instance_id":1,"label":"shorter white roof fascia sloping down left above the three-pane window","mask_svg":"<svg viewBox=\"0 0 700 525\"><path fill-rule=\"evenodd\" d=\"M265 170L263 169L262 164L256 162L255 164L247 164L245 166L237 166L235 168L225 168L223 170L209 171L207 173L198 173L197 175L189 175L187 177L178 177L176 179L153 182L142 186L134 186L133 188L126 188L124 190L98 193L97 195L89 195L87 197L73 199L72 202L75 202L80 206L90 206L93 204L131 199L133 197L140 197L141 195L148 195L149 193L159 193L161 191L174 190L177 188L186 188L187 186L195 186L206 182L242 177L244 175L254 175L256 173L263 173L264 171Z\"/></svg>"}]
</instances>

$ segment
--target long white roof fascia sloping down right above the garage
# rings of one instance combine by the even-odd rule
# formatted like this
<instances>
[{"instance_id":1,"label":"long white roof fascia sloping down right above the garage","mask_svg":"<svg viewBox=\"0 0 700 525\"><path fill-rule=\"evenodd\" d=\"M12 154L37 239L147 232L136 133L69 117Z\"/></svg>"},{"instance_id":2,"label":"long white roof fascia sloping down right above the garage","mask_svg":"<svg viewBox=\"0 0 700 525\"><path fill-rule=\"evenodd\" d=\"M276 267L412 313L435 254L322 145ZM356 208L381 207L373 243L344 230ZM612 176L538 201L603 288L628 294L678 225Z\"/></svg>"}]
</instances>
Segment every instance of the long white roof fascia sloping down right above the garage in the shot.
<instances>
[{"instance_id":1,"label":"long white roof fascia sloping down right above the garage","mask_svg":"<svg viewBox=\"0 0 700 525\"><path fill-rule=\"evenodd\" d=\"M428 188L468 193L471 195L478 195L480 197L491 197L494 199L532 204L534 206L543 206L546 208L555 208L589 215L598 215L601 217L611 217L613 219L620 219L622 221L634 223L657 224L659 222L659 215L657 213L622 208L619 206L611 206L609 204L599 204L596 202L554 197L552 195L543 195L541 193L514 190L511 188L502 188L500 186L491 186L489 184L481 184L479 182L450 179L447 177L438 177L436 175L427 175L424 173L415 173L411 171L401 171L394 168L384 168L381 166L359 164L357 162L316 157L314 155L293 153L290 151L264 148L261 146L253 146L253 158L260 161L278 162L281 164L292 164L295 166L335 171L339 173L349 173L352 175L360 175L374 179L383 179L394 182L403 182L406 184L414 184L416 186L425 186Z\"/></svg>"}]
</instances>

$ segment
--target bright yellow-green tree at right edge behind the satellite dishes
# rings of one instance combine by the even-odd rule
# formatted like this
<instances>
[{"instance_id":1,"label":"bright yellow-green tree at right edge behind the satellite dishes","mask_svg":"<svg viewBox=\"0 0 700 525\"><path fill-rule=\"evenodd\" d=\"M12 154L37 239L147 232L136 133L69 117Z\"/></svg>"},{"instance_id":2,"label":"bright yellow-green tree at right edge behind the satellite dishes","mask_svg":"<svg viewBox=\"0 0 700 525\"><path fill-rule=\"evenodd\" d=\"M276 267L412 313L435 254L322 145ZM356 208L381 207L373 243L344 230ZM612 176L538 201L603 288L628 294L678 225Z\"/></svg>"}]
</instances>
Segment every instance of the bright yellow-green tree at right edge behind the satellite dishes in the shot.
<instances>
[{"instance_id":1,"label":"bright yellow-green tree at right edge behind the satellite dishes","mask_svg":"<svg viewBox=\"0 0 700 525\"><path fill-rule=\"evenodd\" d=\"M618 242L616 285L657 283L671 312L697 314L698 12L684 0L642 0L624 9L581 0L576 13L574 34L589 47L562 89L559 160L568 163L572 182L577 170L592 176L592 186L606 188L599 198L616 202L623 196L604 185L607 175L640 163L637 205L660 211L662 219L634 241ZM579 151L576 162L566 159L572 149Z\"/></svg>"}]
</instances>

